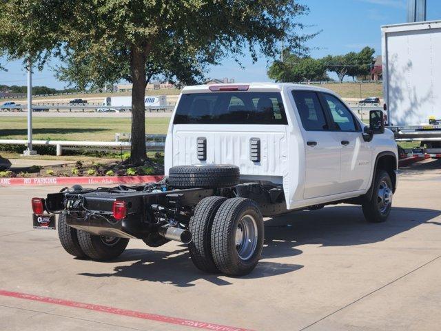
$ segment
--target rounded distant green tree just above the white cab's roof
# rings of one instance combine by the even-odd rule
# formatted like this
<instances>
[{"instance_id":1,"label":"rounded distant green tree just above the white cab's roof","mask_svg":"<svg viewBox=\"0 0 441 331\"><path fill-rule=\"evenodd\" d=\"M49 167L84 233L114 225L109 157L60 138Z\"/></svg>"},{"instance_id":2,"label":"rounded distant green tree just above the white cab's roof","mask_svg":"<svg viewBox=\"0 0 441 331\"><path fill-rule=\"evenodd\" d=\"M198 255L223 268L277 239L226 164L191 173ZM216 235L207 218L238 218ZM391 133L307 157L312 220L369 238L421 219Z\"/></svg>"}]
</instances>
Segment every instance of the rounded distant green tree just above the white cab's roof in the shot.
<instances>
[{"instance_id":1,"label":"rounded distant green tree just above the white cab's roof","mask_svg":"<svg viewBox=\"0 0 441 331\"><path fill-rule=\"evenodd\" d=\"M268 69L268 77L278 82L321 81L326 80L326 67L320 59L298 57L284 53L284 61L274 61Z\"/></svg>"}]
</instances>

